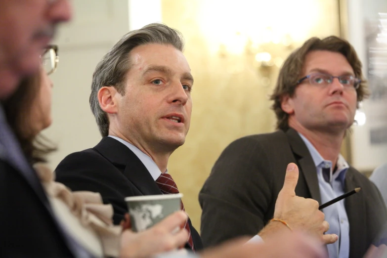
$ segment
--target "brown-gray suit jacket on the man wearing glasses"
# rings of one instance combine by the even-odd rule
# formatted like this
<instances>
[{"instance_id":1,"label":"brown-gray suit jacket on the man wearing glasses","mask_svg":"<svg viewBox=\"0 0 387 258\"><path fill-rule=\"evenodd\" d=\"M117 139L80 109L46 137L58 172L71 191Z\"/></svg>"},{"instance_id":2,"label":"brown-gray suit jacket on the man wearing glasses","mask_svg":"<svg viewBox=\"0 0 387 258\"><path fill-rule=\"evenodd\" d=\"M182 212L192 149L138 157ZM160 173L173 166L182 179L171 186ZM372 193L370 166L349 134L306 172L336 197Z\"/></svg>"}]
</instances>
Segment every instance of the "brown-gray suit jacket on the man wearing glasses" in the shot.
<instances>
[{"instance_id":1,"label":"brown-gray suit jacket on the man wearing glasses","mask_svg":"<svg viewBox=\"0 0 387 258\"><path fill-rule=\"evenodd\" d=\"M199 194L204 246L257 234L273 217L286 167L291 162L300 170L296 194L321 204L316 167L297 131L252 135L232 142L216 161ZM345 191L359 186L359 193L345 199L350 258L365 254L387 217L376 186L350 167Z\"/></svg>"}]
</instances>

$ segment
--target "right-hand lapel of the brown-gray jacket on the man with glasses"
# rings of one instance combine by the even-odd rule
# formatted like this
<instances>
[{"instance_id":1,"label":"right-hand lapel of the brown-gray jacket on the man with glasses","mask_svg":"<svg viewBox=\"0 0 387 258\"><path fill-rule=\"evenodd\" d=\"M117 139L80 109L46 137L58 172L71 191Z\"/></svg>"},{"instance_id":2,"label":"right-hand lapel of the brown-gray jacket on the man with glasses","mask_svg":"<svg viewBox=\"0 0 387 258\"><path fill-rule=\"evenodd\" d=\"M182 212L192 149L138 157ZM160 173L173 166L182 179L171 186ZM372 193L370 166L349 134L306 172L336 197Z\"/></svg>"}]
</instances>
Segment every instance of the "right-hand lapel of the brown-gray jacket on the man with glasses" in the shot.
<instances>
[{"instance_id":1,"label":"right-hand lapel of the brown-gray jacket on the man with glasses","mask_svg":"<svg viewBox=\"0 0 387 258\"><path fill-rule=\"evenodd\" d=\"M349 167L345 174L345 186L344 191L353 190L359 185L356 183L353 177L353 168ZM365 200L364 193L362 191L345 198L345 211L349 221L349 257L357 257L362 250L366 250L367 243L367 219L365 217Z\"/></svg>"}]
</instances>

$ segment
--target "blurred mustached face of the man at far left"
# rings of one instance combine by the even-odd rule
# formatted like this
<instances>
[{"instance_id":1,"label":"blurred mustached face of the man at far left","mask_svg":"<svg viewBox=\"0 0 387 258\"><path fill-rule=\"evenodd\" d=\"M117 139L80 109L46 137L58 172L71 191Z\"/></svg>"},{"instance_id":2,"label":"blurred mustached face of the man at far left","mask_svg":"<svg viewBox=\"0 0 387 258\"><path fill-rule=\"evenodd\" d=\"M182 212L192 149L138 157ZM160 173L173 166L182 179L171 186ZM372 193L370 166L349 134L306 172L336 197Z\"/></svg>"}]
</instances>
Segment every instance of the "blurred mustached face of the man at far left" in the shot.
<instances>
[{"instance_id":1,"label":"blurred mustached face of the man at far left","mask_svg":"<svg viewBox=\"0 0 387 258\"><path fill-rule=\"evenodd\" d=\"M56 25L70 17L69 0L0 0L0 99L38 71Z\"/></svg>"}]
</instances>

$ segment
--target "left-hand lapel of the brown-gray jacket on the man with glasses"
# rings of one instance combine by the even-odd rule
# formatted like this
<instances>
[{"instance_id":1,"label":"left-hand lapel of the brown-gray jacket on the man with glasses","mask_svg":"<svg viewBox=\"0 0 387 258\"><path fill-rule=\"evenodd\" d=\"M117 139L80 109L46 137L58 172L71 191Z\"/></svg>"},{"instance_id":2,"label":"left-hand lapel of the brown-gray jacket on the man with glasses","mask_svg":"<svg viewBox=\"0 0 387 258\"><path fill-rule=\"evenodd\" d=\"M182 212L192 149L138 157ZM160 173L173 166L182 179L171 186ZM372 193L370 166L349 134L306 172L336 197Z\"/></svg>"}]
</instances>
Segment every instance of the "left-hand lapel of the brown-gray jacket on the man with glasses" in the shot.
<instances>
[{"instance_id":1,"label":"left-hand lapel of the brown-gray jacket on the man with glasses","mask_svg":"<svg viewBox=\"0 0 387 258\"><path fill-rule=\"evenodd\" d=\"M286 131L286 135L288 137L290 147L298 156L296 159L298 158L300 173L302 173L305 177L310 195L312 199L318 201L318 203L321 205L321 195L320 188L318 186L316 166L314 165L312 156L310 155L308 148L296 130L288 129Z\"/></svg>"}]
</instances>

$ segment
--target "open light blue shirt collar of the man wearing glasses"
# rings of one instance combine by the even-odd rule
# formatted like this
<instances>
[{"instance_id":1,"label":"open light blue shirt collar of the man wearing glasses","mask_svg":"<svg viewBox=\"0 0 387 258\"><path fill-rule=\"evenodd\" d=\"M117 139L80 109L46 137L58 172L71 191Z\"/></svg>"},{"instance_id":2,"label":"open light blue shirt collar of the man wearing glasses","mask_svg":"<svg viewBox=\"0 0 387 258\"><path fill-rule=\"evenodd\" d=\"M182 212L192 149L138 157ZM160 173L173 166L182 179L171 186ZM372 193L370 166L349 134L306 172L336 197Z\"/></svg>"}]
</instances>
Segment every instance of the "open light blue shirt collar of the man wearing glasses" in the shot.
<instances>
[{"instance_id":1,"label":"open light blue shirt collar of the man wearing glasses","mask_svg":"<svg viewBox=\"0 0 387 258\"><path fill-rule=\"evenodd\" d=\"M313 146L313 144L306 139L305 136L303 136L300 132L299 135L303 142L306 145L306 148L308 148L310 156L312 156L314 166L316 169L322 168L326 164L330 164L331 167L331 181L332 180L340 180L343 187L344 187L344 179L346 171L349 168L348 163L345 161L343 155L339 154L338 160L337 160L337 172L334 174L332 173L332 161L324 160L324 158L320 155L320 153L316 150L316 148Z\"/></svg>"}]
</instances>

